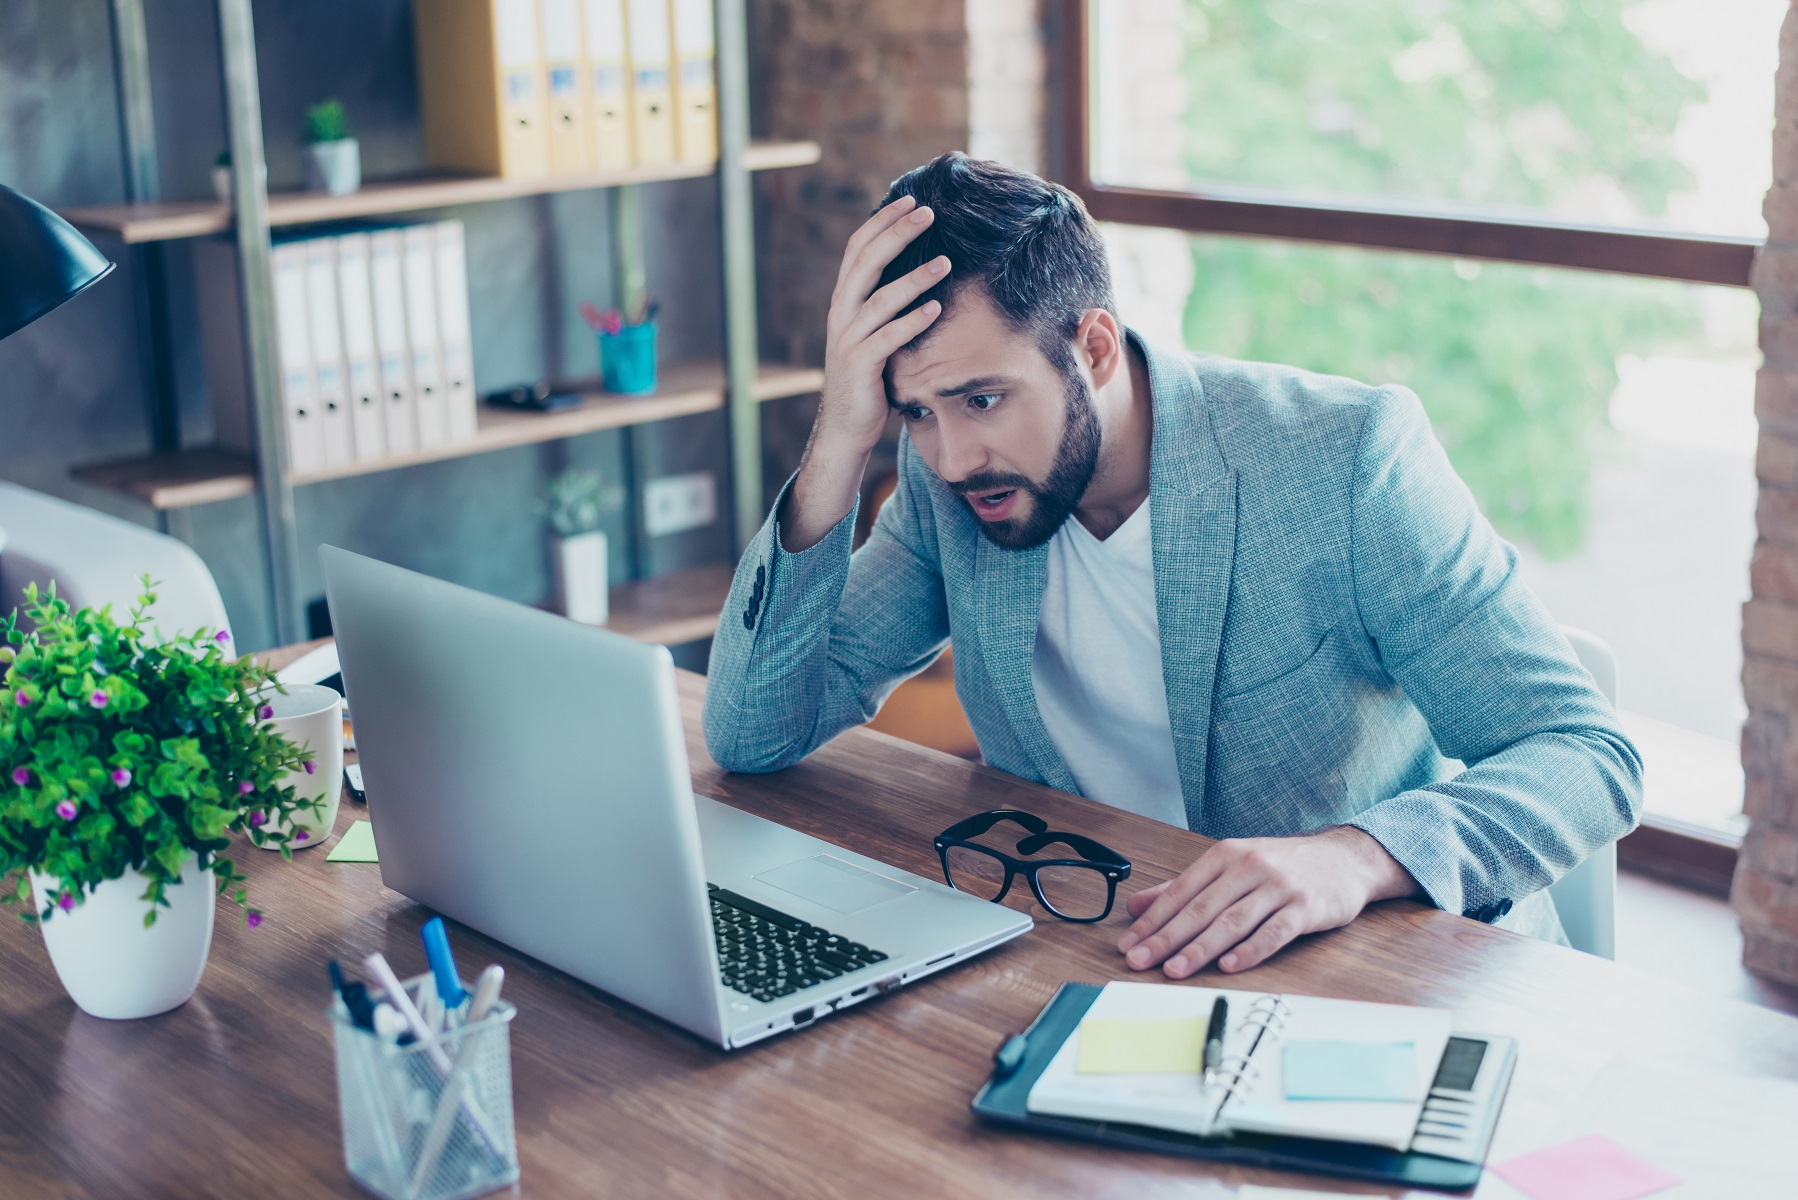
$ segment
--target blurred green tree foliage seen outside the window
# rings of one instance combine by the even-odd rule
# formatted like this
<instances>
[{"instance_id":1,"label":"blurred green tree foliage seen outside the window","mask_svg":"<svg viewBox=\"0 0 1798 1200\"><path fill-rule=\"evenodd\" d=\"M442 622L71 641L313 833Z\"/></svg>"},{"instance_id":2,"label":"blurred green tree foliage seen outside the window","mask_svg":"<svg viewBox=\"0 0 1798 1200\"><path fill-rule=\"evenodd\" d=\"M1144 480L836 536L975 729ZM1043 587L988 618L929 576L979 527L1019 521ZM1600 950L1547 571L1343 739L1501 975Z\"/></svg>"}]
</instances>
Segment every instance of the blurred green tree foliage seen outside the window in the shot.
<instances>
[{"instance_id":1,"label":"blurred green tree foliage seen outside the window","mask_svg":"<svg viewBox=\"0 0 1798 1200\"><path fill-rule=\"evenodd\" d=\"M1622 0L1188 0L1199 182L1642 219L1692 184L1705 99ZM1187 344L1417 390L1485 513L1579 551L1616 358L1696 342L1696 290L1429 255L1196 237Z\"/></svg>"}]
</instances>

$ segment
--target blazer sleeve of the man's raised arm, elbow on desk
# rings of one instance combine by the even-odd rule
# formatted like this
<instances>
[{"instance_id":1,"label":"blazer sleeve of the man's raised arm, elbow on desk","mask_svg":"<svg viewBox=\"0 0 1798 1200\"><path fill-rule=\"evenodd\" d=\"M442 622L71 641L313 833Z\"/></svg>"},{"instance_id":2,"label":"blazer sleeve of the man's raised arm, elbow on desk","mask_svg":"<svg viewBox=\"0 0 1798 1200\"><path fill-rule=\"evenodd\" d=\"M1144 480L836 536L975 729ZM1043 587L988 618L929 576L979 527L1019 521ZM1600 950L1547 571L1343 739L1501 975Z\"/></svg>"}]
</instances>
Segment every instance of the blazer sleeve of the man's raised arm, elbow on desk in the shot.
<instances>
[{"instance_id":1,"label":"blazer sleeve of the man's raised arm, elbow on desk","mask_svg":"<svg viewBox=\"0 0 1798 1200\"><path fill-rule=\"evenodd\" d=\"M852 556L854 511L811 549L782 549L793 480L780 489L712 640L705 743L725 770L780 770L865 725L948 644L930 502L908 459L901 443L899 486Z\"/></svg>"}]
</instances>

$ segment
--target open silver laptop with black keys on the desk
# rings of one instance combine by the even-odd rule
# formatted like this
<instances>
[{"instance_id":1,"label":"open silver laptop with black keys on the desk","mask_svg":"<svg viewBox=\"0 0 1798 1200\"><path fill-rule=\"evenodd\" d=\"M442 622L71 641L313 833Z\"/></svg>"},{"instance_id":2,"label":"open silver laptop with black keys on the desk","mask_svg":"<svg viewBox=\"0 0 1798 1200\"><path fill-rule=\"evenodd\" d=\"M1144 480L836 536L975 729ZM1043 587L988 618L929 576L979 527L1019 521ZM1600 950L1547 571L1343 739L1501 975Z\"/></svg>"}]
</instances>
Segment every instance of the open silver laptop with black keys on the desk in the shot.
<instances>
[{"instance_id":1,"label":"open silver laptop with black keys on the desk","mask_svg":"<svg viewBox=\"0 0 1798 1200\"><path fill-rule=\"evenodd\" d=\"M394 891L725 1049L1030 928L696 797L665 648L320 556Z\"/></svg>"}]
</instances>

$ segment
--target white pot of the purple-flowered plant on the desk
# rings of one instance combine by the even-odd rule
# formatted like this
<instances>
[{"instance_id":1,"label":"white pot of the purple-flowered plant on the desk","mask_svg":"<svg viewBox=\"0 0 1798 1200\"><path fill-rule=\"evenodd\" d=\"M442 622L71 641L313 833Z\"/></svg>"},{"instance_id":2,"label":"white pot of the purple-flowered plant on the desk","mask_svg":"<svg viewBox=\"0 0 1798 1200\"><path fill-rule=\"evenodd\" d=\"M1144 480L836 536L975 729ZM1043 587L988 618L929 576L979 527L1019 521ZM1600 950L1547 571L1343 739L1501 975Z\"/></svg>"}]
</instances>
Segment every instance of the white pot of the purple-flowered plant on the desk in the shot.
<instances>
[{"instance_id":1,"label":"white pot of the purple-flowered plant on the desk","mask_svg":"<svg viewBox=\"0 0 1798 1200\"><path fill-rule=\"evenodd\" d=\"M149 885L137 871L95 887L85 903L43 921L43 945L68 997L90 1016L131 1020L180 1007L200 986L212 950L214 876L187 856L182 882L169 887L169 907L144 928ZM58 887L31 873L32 903L43 912Z\"/></svg>"}]
</instances>

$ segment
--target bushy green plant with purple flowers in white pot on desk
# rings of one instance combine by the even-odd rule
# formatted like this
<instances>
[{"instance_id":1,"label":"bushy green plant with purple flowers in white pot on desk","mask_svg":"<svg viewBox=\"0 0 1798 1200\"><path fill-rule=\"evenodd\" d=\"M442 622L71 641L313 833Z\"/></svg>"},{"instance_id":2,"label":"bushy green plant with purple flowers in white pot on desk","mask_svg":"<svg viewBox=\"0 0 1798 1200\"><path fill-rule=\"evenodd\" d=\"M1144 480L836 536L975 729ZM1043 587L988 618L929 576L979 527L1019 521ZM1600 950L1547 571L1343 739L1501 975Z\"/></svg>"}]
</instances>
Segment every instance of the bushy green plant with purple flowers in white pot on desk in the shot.
<instances>
[{"instance_id":1,"label":"bushy green plant with purple flowers in white pot on desk","mask_svg":"<svg viewBox=\"0 0 1798 1200\"><path fill-rule=\"evenodd\" d=\"M41 927L76 1004L108 1018L187 1002L214 892L263 921L221 851L248 833L288 856L264 826L313 806L284 786L309 756L264 723L273 675L234 660L223 631L162 639L151 588L122 622L54 585L25 590L25 622L0 619L0 898Z\"/></svg>"}]
</instances>

